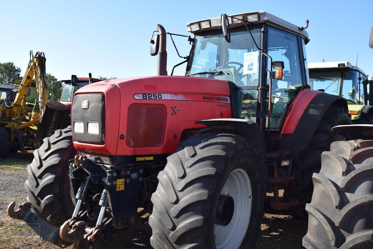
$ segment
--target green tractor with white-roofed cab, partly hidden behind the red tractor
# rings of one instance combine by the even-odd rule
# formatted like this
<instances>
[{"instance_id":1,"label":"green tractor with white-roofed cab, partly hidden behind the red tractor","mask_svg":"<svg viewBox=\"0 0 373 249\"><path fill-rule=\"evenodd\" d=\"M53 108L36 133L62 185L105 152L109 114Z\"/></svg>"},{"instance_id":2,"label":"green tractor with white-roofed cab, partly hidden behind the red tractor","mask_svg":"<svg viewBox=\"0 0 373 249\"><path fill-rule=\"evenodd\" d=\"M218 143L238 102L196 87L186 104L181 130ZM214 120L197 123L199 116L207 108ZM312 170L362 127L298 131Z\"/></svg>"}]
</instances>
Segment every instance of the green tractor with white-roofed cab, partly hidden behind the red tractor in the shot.
<instances>
[{"instance_id":1,"label":"green tractor with white-roofed cab, partly hidden behind the red tractor","mask_svg":"<svg viewBox=\"0 0 373 249\"><path fill-rule=\"evenodd\" d=\"M308 63L311 89L344 97L353 124L373 124L367 74L350 62Z\"/></svg>"}]
</instances>

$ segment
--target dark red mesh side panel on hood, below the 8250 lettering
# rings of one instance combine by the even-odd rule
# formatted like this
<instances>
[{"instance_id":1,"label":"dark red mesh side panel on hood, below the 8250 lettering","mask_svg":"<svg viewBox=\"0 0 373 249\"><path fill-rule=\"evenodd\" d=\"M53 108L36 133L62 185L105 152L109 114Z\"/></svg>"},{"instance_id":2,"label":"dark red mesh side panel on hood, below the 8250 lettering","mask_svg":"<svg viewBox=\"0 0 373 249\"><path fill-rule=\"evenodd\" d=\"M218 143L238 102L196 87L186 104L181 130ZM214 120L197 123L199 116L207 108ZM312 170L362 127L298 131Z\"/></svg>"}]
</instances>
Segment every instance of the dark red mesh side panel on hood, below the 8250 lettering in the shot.
<instances>
[{"instance_id":1,"label":"dark red mesh side panel on hood, below the 8250 lettering","mask_svg":"<svg viewBox=\"0 0 373 249\"><path fill-rule=\"evenodd\" d=\"M156 147L164 142L167 110L159 104L132 104L128 108L126 144L131 148Z\"/></svg>"}]
</instances>

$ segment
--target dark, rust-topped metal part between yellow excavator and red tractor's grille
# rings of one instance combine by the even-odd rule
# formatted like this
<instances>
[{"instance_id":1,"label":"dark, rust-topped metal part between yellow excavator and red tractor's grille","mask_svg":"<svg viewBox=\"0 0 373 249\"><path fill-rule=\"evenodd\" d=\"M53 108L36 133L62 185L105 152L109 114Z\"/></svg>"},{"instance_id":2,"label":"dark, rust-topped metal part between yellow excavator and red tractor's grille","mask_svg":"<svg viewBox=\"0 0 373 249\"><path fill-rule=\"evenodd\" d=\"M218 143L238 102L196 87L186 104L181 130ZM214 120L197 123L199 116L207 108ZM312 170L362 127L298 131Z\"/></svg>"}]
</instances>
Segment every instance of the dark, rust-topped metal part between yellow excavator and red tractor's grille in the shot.
<instances>
[{"instance_id":1,"label":"dark, rust-topped metal part between yellow excavator and red tractor's grille","mask_svg":"<svg viewBox=\"0 0 373 249\"><path fill-rule=\"evenodd\" d=\"M43 116L39 122L35 137L34 146L39 148L43 144L43 139L47 137L48 130L53 127L54 130L65 129L70 123L71 103L61 103L59 101L48 101Z\"/></svg>"}]
</instances>

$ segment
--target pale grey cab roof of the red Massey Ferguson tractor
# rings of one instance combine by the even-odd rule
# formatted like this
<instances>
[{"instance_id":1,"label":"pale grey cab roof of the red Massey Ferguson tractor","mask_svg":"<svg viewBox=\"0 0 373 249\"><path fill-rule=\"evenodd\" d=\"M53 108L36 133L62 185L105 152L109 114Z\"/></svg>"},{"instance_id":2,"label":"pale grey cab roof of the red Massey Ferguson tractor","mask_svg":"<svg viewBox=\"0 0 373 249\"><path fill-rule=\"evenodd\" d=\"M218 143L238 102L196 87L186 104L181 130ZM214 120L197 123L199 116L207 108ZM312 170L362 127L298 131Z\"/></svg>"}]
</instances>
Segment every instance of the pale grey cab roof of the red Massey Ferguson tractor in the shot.
<instances>
[{"instance_id":1,"label":"pale grey cab roof of the red Massey Ferguson tractor","mask_svg":"<svg viewBox=\"0 0 373 249\"><path fill-rule=\"evenodd\" d=\"M244 13L239 13L239 14L234 14L234 15L229 15L229 16L233 16L233 17L235 17L235 16L245 16L245 19L246 19L246 16L255 15L255 14L259 15L259 21L256 21L256 22L253 22L253 23L268 23L269 25L274 26L276 28L284 29L284 30L289 31L293 34L300 35L301 37L304 38L304 42L306 44L308 43L308 41L310 41L310 38L308 37L307 31L305 31L305 30L301 31L299 29L300 28L299 26L294 25L290 22L287 22L287 21L285 21L281 18L278 18L277 16L274 16L274 15L272 15L268 12L265 12L263 10L253 11L253 12L244 12ZM210 23L211 23L210 28L201 28L201 29L198 29L196 31L191 30L191 25L201 23L201 22L206 22L206 21L210 21ZM228 17L228 21L229 21L229 26L231 28L244 26L243 22L232 24L232 18L230 18L230 17ZM193 34L196 34L198 32L207 31L207 30L217 30L217 29L221 29L221 27L220 27L220 16L215 17L215 18L202 19L202 20L194 21L194 22L188 22L186 24L186 31L191 32Z\"/></svg>"}]
</instances>

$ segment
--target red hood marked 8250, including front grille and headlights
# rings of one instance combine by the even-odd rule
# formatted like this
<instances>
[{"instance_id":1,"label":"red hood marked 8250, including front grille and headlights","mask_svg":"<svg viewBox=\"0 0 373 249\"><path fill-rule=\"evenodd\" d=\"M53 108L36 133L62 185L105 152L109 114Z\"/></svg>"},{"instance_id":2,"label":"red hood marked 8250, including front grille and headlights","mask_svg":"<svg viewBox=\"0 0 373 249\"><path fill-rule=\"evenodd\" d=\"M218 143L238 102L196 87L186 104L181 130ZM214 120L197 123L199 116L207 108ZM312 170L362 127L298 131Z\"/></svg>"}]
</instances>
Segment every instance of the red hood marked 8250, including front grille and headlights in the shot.
<instances>
[{"instance_id":1,"label":"red hood marked 8250, including front grille and headlights","mask_svg":"<svg viewBox=\"0 0 373 249\"><path fill-rule=\"evenodd\" d=\"M226 81L190 76L101 81L73 97L73 143L91 154L171 153L185 129L204 127L196 120L231 115Z\"/></svg>"}]
</instances>

